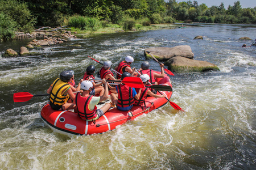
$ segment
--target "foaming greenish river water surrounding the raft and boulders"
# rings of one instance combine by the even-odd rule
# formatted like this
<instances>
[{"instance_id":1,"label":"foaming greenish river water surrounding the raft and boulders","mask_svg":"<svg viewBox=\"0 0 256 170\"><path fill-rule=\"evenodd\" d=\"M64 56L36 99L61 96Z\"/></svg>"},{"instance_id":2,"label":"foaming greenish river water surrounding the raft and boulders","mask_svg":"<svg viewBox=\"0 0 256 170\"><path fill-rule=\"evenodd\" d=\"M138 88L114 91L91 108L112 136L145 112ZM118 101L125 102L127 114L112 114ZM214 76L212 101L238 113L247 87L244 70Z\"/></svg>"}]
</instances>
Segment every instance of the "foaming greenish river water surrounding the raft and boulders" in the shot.
<instances>
[{"instance_id":1,"label":"foaming greenish river water surrounding the raft and boulders","mask_svg":"<svg viewBox=\"0 0 256 170\"><path fill-rule=\"evenodd\" d=\"M3 58L29 39L0 44L0 169L256 169L256 25L191 24L186 29L98 34L33 49L40 56ZM204 40L193 40L195 36ZM247 36L253 40L238 40ZM81 45L76 47L72 45ZM133 67L145 61L143 50L189 45L194 59L220 71L170 76L170 104L104 134L67 137L44 125L40 111L47 97L14 103L15 92L46 94L65 69L76 83L88 65L126 56ZM148 60L150 68L159 64Z\"/></svg>"}]
</instances>

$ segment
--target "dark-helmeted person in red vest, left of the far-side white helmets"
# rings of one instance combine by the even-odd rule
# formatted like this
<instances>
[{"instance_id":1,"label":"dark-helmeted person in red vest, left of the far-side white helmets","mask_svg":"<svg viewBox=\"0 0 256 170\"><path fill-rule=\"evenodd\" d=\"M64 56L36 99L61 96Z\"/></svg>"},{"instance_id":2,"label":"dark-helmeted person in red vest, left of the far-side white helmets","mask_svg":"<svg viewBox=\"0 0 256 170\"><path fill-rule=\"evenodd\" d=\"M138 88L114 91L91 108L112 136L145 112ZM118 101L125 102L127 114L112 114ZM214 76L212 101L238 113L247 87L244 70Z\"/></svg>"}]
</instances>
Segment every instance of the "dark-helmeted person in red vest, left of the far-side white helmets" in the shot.
<instances>
[{"instance_id":1,"label":"dark-helmeted person in red vest, left of the far-side white helmets","mask_svg":"<svg viewBox=\"0 0 256 170\"><path fill-rule=\"evenodd\" d=\"M90 80L90 79L95 79L93 74L95 73L95 67L93 65L89 65L86 68L86 72L84 73L84 77L82 79L84 80ZM104 87L101 86L103 84L103 82L100 83L94 83L93 80L91 80L91 82L93 83L93 90L90 91L90 95L97 95L99 94L99 96L102 96L104 94Z\"/></svg>"}]
</instances>

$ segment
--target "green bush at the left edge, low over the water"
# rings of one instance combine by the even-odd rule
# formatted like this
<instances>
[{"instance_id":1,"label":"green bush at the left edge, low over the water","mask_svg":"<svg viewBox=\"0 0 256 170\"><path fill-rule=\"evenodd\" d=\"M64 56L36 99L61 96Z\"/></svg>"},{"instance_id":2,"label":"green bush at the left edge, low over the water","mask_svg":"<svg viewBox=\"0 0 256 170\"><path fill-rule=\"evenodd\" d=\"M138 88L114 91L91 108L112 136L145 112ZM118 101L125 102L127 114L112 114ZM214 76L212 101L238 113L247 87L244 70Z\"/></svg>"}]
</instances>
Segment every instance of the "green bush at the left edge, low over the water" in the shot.
<instances>
[{"instance_id":1,"label":"green bush at the left edge, low over the water","mask_svg":"<svg viewBox=\"0 0 256 170\"><path fill-rule=\"evenodd\" d=\"M8 15L0 14L0 40L10 40L15 37L16 22Z\"/></svg>"}]
</instances>

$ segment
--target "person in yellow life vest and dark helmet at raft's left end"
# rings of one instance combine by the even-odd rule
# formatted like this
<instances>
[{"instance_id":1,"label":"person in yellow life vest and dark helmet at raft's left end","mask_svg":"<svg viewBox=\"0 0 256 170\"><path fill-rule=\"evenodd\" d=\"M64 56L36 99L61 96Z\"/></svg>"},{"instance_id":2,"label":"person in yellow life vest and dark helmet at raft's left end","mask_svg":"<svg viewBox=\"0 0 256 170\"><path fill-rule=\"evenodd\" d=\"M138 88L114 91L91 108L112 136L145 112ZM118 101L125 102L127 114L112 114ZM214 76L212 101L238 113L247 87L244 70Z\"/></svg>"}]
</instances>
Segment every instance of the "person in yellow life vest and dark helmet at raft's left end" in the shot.
<instances>
[{"instance_id":1,"label":"person in yellow life vest and dark helmet at raft's left end","mask_svg":"<svg viewBox=\"0 0 256 170\"><path fill-rule=\"evenodd\" d=\"M67 109L76 109L74 103L67 103L70 96L75 101L75 95L72 92L70 84L72 80L72 73L70 71L62 71L60 78L57 78L51 86L48 88L47 93L49 95L49 104L55 111L64 111Z\"/></svg>"}]
</instances>

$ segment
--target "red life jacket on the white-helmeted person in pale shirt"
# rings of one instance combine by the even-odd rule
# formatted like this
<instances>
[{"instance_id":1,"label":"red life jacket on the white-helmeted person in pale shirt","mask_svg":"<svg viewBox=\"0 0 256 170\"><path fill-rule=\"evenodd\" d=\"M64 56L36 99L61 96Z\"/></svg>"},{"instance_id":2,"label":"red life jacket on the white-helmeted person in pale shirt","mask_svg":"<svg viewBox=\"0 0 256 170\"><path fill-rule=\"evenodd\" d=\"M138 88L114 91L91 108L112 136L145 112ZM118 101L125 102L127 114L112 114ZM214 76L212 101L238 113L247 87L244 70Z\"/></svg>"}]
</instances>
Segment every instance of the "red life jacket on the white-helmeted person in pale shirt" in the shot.
<instances>
[{"instance_id":1,"label":"red life jacket on the white-helmeted person in pale shirt","mask_svg":"<svg viewBox=\"0 0 256 170\"><path fill-rule=\"evenodd\" d=\"M83 97L79 93L76 94L77 112L83 120L94 121L98 119L96 105L92 111L89 109L89 103L90 103L90 100L92 100L92 97L93 95Z\"/></svg>"}]
</instances>

